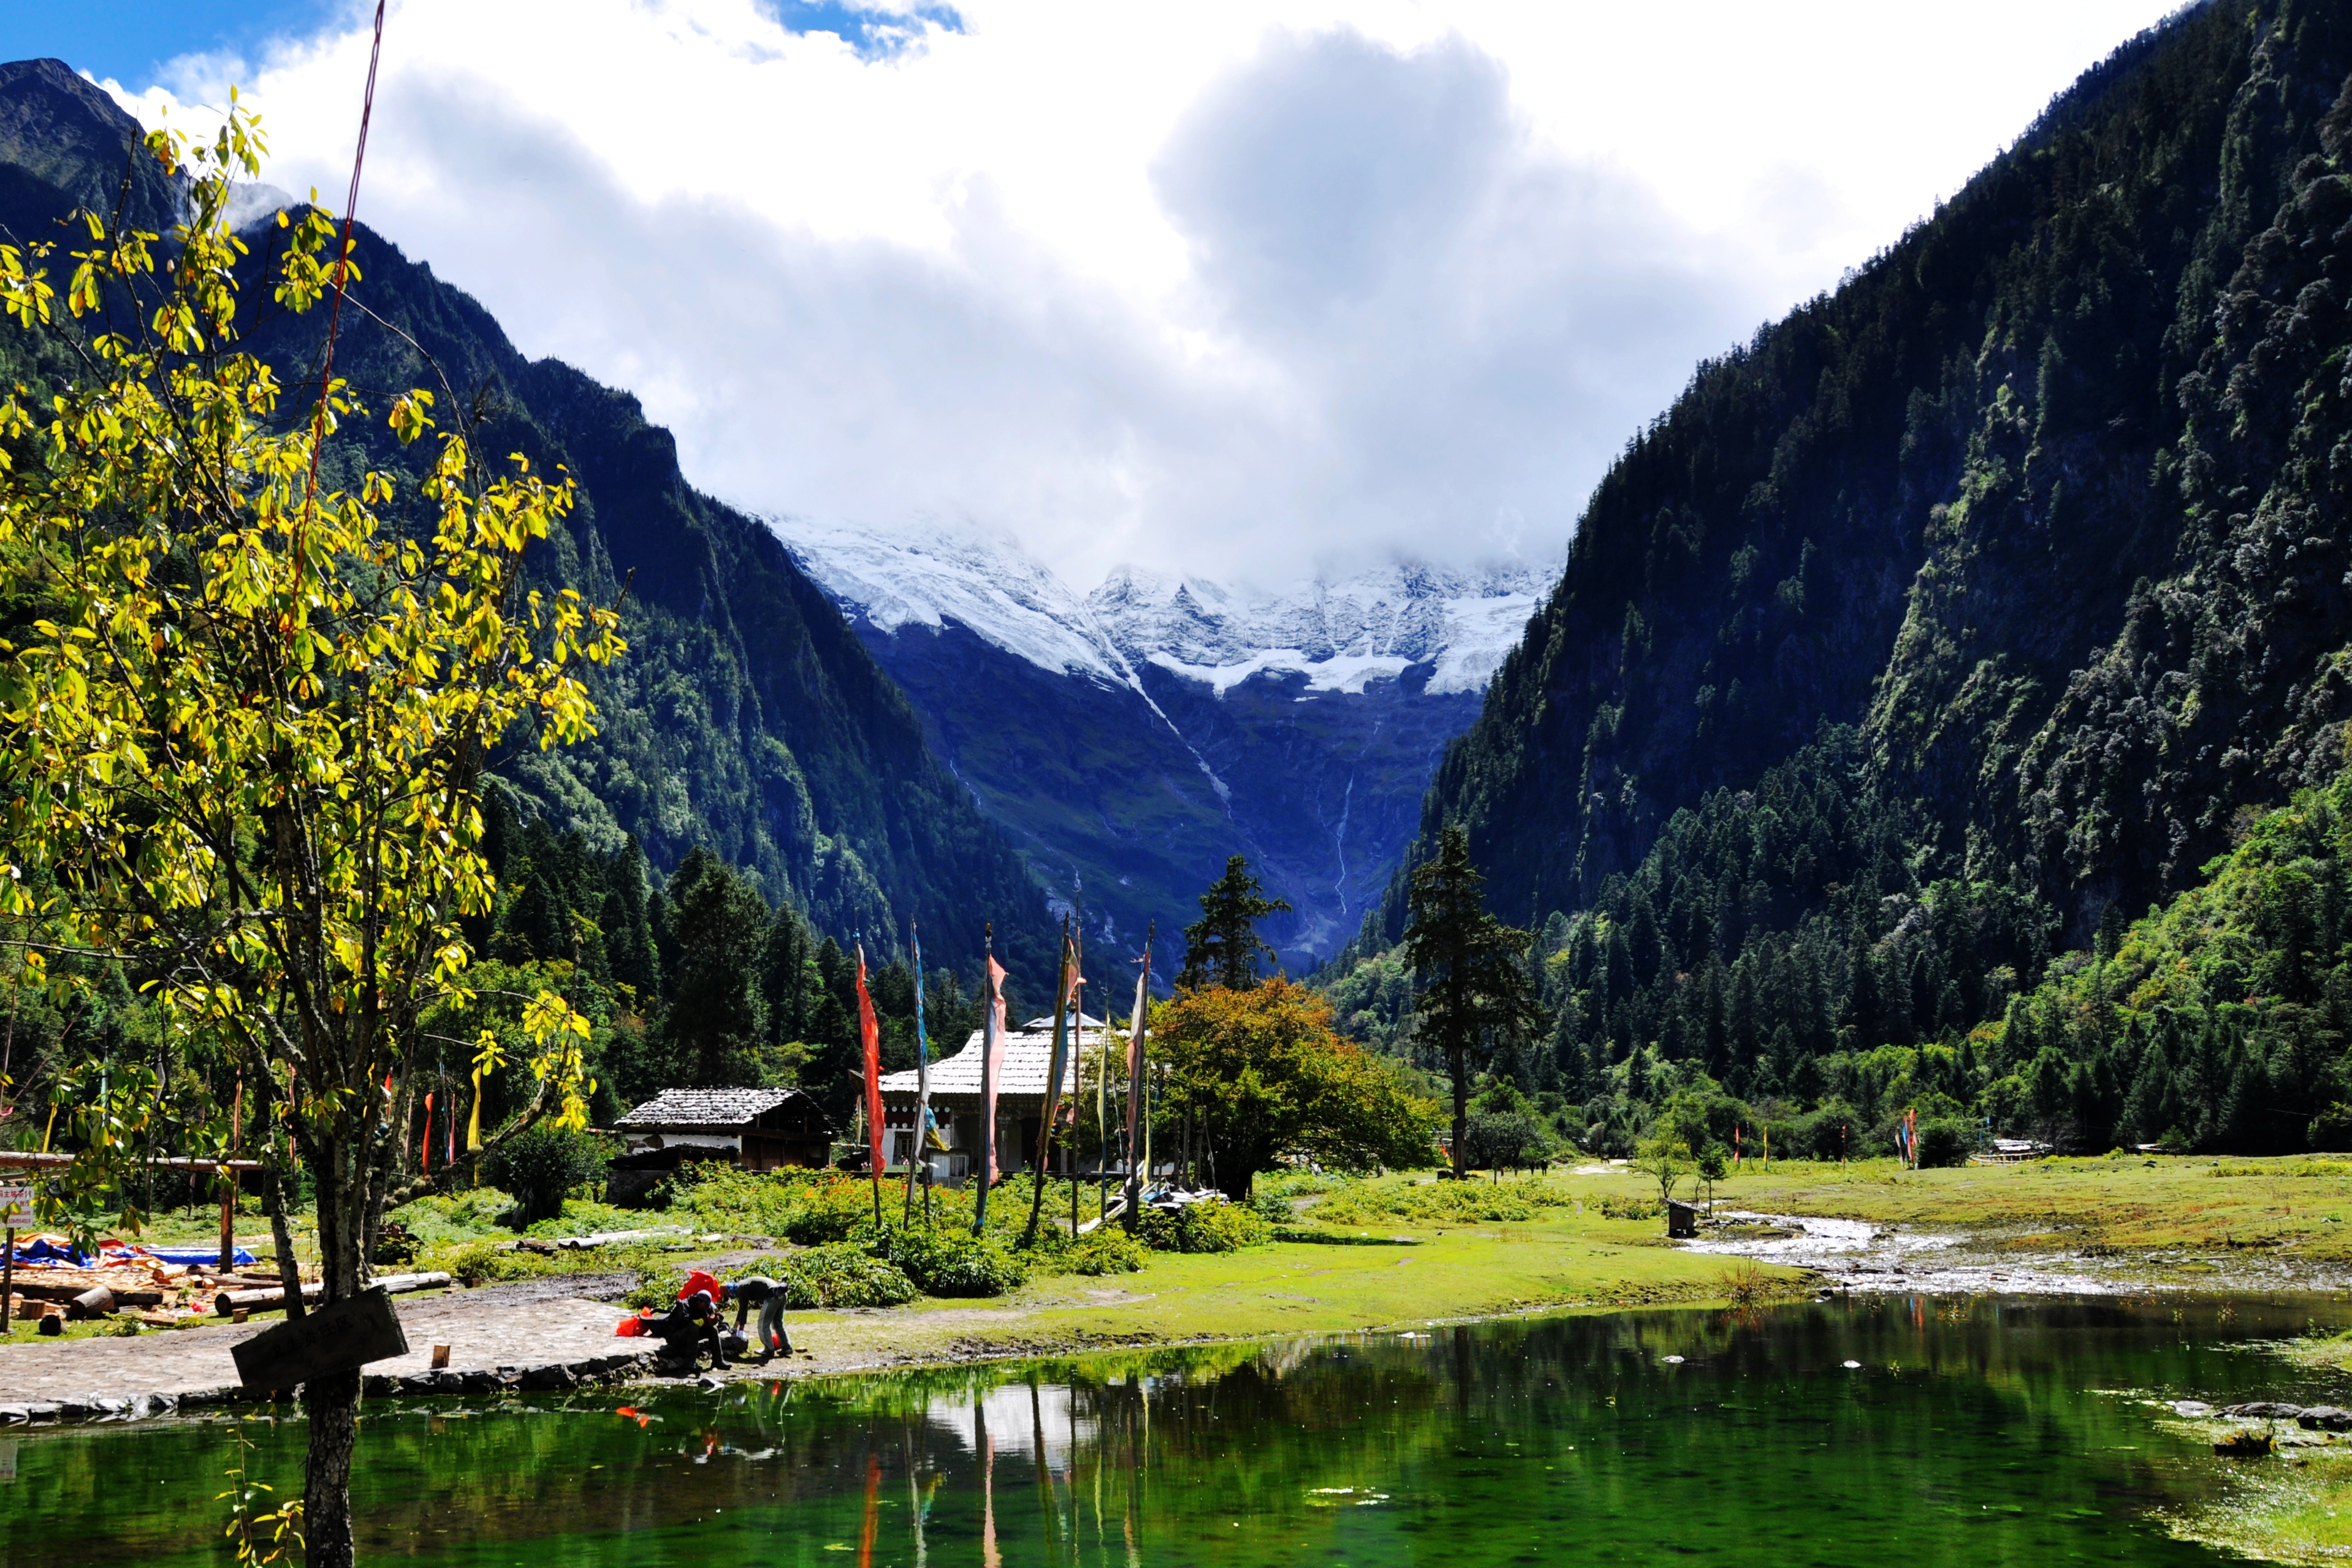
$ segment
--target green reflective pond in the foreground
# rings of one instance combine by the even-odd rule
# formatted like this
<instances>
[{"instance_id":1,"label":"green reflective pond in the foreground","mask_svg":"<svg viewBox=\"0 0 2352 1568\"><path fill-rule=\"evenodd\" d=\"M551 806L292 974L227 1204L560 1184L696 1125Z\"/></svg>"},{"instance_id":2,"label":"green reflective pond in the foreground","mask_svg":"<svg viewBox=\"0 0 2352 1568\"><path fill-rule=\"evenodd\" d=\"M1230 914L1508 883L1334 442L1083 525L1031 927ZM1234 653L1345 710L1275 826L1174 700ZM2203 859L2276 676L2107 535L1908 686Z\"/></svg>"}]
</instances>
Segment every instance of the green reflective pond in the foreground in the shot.
<instances>
[{"instance_id":1,"label":"green reflective pond in the foreground","mask_svg":"<svg viewBox=\"0 0 2352 1568\"><path fill-rule=\"evenodd\" d=\"M2321 1298L1856 1298L374 1401L362 1561L2211 1563L2157 1509L2213 1500L2230 1462L2159 1432L2147 1399L2340 1401L2258 1342L2347 1316ZM299 1420L238 1429L252 1474L299 1488ZM228 1422L12 1441L0 1568L221 1561Z\"/></svg>"}]
</instances>

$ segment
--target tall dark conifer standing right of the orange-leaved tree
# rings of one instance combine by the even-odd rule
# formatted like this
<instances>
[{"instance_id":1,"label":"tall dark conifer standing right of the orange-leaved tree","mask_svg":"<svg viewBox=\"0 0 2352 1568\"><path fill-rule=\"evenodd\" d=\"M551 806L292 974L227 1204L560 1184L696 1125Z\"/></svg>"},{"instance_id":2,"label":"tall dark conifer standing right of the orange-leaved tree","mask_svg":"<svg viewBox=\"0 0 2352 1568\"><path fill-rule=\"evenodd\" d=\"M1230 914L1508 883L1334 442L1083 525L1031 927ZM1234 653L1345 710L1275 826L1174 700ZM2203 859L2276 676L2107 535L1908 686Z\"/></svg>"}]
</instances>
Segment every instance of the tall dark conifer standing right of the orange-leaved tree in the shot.
<instances>
[{"instance_id":1,"label":"tall dark conifer standing right of the orange-leaved tree","mask_svg":"<svg viewBox=\"0 0 2352 1568\"><path fill-rule=\"evenodd\" d=\"M1414 924L1404 954L1421 985L1421 1039L1446 1058L1454 1081L1454 1173L1465 1173L1470 1067L1536 1027L1526 954L1534 933L1486 912L1486 877L1470 863L1470 835L1446 827L1437 856L1414 872ZM1632 1044L1632 1041L1628 1041Z\"/></svg>"}]
</instances>

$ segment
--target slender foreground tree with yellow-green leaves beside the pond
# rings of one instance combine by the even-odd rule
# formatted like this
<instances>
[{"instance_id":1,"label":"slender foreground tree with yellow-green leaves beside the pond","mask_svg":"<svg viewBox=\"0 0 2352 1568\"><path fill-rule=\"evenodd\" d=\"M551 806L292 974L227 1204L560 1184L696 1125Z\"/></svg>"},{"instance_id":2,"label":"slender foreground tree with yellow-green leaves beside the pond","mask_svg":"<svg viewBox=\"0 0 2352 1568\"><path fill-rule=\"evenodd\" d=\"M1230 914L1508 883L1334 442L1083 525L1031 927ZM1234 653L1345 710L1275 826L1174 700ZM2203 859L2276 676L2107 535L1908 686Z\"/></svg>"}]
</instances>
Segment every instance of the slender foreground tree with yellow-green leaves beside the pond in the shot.
<instances>
[{"instance_id":1,"label":"slender foreground tree with yellow-green leaves beside the pond","mask_svg":"<svg viewBox=\"0 0 2352 1568\"><path fill-rule=\"evenodd\" d=\"M334 1302L369 1284L421 1018L466 994L459 922L492 905L485 757L517 729L595 733L576 668L623 642L612 611L522 578L569 480L517 458L485 482L426 393L388 409L400 442L437 440L416 494L383 473L320 491L320 447L365 409L329 381L285 418L280 381L238 348L247 247L226 207L261 150L230 99L209 141L146 141L186 181L169 235L80 214L87 244L64 256L0 247L0 306L78 367L0 397L0 581L31 607L0 642L0 912L33 933L35 971L118 961L165 1027L235 1065L247 1140L315 1182ZM348 268L348 233L315 207L278 226L275 299L308 310ZM586 1018L539 992L524 1025L524 1121L583 1126ZM120 1185L136 1114L87 1128L68 1180ZM308 1387L313 1563L353 1556L358 1392L355 1368Z\"/></svg>"}]
</instances>

